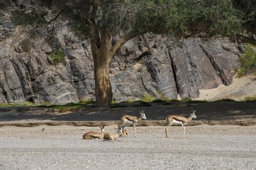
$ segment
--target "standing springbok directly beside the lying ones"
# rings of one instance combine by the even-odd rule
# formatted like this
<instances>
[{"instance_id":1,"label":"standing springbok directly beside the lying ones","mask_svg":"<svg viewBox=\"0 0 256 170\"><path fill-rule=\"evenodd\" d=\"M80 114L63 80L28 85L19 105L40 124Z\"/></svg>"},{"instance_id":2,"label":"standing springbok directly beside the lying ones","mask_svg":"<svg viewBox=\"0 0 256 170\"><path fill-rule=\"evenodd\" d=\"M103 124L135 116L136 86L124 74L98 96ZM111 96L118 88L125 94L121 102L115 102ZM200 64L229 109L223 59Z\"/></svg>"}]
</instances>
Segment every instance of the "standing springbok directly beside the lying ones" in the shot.
<instances>
[{"instance_id":1,"label":"standing springbok directly beside the lying ones","mask_svg":"<svg viewBox=\"0 0 256 170\"><path fill-rule=\"evenodd\" d=\"M136 124L138 122L140 122L143 119L147 119L146 114L144 113L144 110L139 111L140 112L140 117L135 117L135 116L131 116L131 115L123 115L123 117L121 117L121 127L122 130L124 130L126 124L133 124L133 136L137 136L136 134Z\"/></svg>"}]
</instances>

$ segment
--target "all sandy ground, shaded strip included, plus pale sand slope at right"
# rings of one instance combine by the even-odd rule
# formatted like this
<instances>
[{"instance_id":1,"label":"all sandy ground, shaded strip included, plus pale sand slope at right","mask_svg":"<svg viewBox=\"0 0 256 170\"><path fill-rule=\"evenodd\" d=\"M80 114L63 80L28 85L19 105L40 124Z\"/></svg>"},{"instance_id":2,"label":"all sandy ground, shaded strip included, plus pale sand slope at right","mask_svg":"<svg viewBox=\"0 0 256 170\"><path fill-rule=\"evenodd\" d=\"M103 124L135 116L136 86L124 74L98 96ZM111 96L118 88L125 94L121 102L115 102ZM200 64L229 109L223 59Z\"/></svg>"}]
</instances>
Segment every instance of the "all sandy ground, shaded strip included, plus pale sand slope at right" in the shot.
<instances>
[{"instance_id":1,"label":"all sandy ground, shaded strip included, plus pale sand slope at right","mask_svg":"<svg viewBox=\"0 0 256 170\"><path fill-rule=\"evenodd\" d=\"M256 96L255 85L254 78L234 79L229 87L201 90L198 100ZM116 141L82 139L87 131L99 131L96 125L102 122L106 131L114 132L121 115L138 116L138 110L145 111L147 121L137 127L137 138L127 127L129 135ZM177 126L165 138L164 125L155 124L168 114L188 116L191 110L198 118L186 126L187 138ZM0 170L256 169L255 130L255 102L151 104L61 113L5 107L0 108Z\"/></svg>"}]
</instances>

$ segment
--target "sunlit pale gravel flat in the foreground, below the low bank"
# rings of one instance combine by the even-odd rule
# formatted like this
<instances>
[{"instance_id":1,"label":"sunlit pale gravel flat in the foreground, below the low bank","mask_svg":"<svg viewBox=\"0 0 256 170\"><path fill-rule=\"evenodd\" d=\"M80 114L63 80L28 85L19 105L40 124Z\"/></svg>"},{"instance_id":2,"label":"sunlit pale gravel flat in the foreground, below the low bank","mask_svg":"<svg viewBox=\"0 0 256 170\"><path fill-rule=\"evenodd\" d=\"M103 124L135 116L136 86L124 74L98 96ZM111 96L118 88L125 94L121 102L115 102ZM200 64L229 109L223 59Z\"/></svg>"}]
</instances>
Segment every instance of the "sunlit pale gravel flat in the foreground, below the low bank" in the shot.
<instances>
[{"instance_id":1,"label":"sunlit pale gravel flat in the foreground, below the low bank","mask_svg":"<svg viewBox=\"0 0 256 170\"><path fill-rule=\"evenodd\" d=\"M107 126L106 131L115 130ZM0 169L256 169L255 126L137 127L116 141L83 140L98 127L0 128Z\"/></svg>"}]
</instances>

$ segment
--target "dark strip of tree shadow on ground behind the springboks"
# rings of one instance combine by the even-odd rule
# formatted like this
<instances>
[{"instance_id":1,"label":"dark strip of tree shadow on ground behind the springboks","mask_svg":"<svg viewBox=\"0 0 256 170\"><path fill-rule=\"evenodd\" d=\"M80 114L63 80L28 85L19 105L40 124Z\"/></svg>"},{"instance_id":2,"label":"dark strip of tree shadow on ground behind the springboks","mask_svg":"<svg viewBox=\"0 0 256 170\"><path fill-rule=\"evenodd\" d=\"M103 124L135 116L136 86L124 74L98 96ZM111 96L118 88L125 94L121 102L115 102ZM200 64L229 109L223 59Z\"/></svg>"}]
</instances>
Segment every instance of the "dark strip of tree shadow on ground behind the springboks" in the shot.
<instances>
[{"instance_id":1,"label":"dark strip of tree shadow on ground behind the springboks","mask_svg":"<svg viewBox=\"0 0 256 170\"><path fill-rule=\"evenodd\" d=\"M38 107L0 107L0 121L119 121L124 114L136 117L144 110L147 121L163 121L168 114L189 117L196 110L196 121L256 120L256 102L213 102L193 104L150 104L112 108L78 108L57 112Z\"/></svg>"}]
</instances>

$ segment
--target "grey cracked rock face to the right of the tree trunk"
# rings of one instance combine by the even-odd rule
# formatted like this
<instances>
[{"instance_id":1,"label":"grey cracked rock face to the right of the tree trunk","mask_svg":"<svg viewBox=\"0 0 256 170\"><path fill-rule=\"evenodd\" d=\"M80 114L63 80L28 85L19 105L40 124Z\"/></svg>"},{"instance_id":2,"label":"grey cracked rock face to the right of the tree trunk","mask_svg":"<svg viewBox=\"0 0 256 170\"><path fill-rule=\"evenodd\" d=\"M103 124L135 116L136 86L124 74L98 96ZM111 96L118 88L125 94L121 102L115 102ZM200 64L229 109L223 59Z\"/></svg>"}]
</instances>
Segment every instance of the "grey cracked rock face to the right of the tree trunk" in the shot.
<instances>
[{"instance_id":1,"label":"grey cracked rock face to the right of the tree trunk","mask_svg":"<svg viewBox=\"0 0 256 170\"><path fill-rule=\"evenodd\" d=\"M184 39L140 36L127 42L112 63L116 100L199 97L199 90L232 83L239 67L237 45L227 39Z\"/></svg>"}]
</instances>

